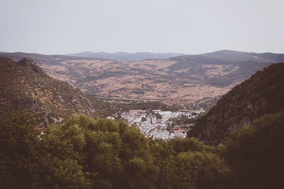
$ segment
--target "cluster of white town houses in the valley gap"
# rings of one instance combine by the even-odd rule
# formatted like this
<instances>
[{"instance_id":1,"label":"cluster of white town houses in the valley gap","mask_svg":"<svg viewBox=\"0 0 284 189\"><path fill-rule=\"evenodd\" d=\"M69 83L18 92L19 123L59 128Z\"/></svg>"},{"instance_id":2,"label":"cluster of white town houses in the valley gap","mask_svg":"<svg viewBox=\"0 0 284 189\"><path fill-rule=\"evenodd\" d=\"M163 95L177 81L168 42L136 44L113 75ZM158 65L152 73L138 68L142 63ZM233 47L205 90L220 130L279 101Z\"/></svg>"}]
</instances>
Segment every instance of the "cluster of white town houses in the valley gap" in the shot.
<instances>
[{"instance_id":1,"label":"cluster of white town houses in the valley gap","mask_svg":"<svg viewBox=\"0 0 284 189\"><path fill-rule=\"evenodd\" d=\"M198 114L204 113L204 110L179 110L177 112L162 110L129 110L121 113L121 118L126 120L129 125L136 124L146 137L154 139L173 139L174 137L186 137L190 125L174 125L171 118L186 116L195 118Z\"/></svg>"}]
</instances>

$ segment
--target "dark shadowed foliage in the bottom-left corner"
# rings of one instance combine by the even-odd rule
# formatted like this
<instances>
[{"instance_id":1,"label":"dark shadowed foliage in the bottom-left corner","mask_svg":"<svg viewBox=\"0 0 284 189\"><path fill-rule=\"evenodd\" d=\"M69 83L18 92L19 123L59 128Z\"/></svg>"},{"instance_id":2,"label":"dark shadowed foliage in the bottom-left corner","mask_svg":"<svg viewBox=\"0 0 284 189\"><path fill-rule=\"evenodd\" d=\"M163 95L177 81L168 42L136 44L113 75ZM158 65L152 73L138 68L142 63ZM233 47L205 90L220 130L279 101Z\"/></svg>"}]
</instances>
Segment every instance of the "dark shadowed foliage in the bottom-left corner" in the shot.
<instances>
[{"instance_id":1,"label":"dark shadowed foliage in the bottom-left corner","mask_svg":"<svg viewBox=\"0 0 284 189\"><path fill-rule=\"evenodd\" d=\"M0 124L1 188L35 188L40 150L31 115L16 113Z\"/></svg>"}]
</instances>

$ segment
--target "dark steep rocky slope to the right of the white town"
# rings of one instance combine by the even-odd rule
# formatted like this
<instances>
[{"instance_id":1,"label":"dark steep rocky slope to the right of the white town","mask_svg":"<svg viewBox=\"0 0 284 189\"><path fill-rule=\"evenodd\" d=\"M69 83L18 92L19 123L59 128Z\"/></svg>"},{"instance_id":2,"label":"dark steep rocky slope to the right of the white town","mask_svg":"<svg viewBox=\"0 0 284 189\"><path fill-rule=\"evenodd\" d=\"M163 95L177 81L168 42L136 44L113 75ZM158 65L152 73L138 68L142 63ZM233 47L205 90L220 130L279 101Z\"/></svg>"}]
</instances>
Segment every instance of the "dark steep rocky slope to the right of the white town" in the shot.
<instances>
[{"instance_id":1,"label":"dark steep rocky slope to the right of the white town","mask_svg":"<svg viewBox=\"0 0 284 189\"><path fill-rule=\"evenodd\" d=\"M271 64L222 96L187 133L205 144L219 144L233 131L268 113L284 110L284 63Z\"/></svg>"}]
</instances>

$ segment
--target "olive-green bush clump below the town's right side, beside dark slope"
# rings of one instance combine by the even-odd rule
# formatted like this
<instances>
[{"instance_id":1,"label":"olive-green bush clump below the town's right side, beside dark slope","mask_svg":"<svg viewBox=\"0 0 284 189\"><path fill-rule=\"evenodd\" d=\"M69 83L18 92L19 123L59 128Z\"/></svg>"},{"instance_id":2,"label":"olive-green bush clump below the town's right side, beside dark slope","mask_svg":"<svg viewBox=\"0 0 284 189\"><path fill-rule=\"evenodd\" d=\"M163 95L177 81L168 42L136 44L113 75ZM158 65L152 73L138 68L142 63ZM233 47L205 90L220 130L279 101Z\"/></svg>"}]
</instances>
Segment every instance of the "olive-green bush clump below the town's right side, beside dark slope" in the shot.
<instances>
[{"instance_id":1,"label":"olive-green bush clump below the town's right side, beside dark slope","mask_svg":"<svg viewBox=\"0 0 284 189\"><path fill-rule=\"evenodd\" d=\"M214 147L195 138L150 142L159 166L157 188L230 188L231 171Z\"/></svg>"}]
</instances>

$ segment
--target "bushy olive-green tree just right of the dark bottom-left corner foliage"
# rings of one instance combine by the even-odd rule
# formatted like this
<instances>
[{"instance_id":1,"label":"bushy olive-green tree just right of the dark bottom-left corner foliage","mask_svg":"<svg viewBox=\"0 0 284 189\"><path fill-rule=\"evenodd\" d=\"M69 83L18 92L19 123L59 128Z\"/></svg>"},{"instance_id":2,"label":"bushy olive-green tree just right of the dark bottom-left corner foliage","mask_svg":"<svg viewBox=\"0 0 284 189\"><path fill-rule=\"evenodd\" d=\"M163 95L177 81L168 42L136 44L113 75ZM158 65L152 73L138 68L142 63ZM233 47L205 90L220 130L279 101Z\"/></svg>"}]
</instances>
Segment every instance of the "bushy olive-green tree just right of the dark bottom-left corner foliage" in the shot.
<instances>
[{"instance_id":1,"label":"bushy olive-green tree just right of the dark bottom-left corner foliage","mask_svg":"<svg viewBox=\"0 0 284 189\"><path fill-rule=\"evenodd\" d=\"M80 165L86 145L84 127L90 120L72 115L62 125L50 125L40 140L42 165L40 185L49 188L87 188L89 181ZM84 127L81 127L84 125Z\"/></svg>"}]
</instances>

